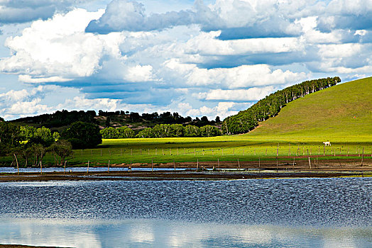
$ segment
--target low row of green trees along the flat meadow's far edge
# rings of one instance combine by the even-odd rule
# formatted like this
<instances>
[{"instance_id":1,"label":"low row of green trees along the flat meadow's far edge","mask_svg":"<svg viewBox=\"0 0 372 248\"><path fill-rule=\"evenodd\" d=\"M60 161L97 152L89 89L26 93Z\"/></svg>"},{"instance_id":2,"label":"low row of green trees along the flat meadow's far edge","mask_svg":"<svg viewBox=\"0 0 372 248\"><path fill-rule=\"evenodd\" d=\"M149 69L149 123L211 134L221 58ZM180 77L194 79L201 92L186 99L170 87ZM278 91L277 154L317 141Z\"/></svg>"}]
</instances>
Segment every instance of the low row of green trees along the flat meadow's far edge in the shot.
<instances>
[{"instance_id":1,"label":"low row of green trees along the flat meadow's far edge","mask_svg":"<svg viewBox=\"0 0 372 248\"><path fill-rule=\"evenodd\" d=\"M212 137L221 135L219 128L212 125L204 125L201 128L196 125L181 124L158 124L153 128L145 128L137 135L130 128L104 128L101 130L104 139L117 138L150 138L150 137Z\"/></svg>"}]
</instances>

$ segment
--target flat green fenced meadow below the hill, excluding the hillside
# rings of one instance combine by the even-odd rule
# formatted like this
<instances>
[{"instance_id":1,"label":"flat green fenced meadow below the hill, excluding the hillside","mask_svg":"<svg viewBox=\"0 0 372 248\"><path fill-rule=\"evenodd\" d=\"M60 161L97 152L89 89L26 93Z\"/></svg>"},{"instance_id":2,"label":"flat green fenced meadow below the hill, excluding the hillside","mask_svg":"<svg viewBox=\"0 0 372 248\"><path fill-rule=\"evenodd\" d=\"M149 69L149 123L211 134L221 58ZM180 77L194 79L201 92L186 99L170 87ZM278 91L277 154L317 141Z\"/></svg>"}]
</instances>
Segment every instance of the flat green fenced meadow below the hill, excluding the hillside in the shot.
<instances>
[{"instance_id":1,"label":"flat green fenced meadow below the hill, excluding the hillside","mask_svg":"<svg viewBox=\"0 0 372 248\"><path fill-rule=\"evenodd\" d=\"M332 142L331 147L324 147L322 140L304 140L293 138L275 140L251 135L235 135L207 138L160 138L160 139L123 139L104 140L102 145L92 150L75 150L74 157L67 165L106 166L110 164L160 164L172 162L217 162L224 161L272 161L277 155L281 161L324 159L350 159L368 165L372 158L371 137L349 142ZM363 154L362 154L363 153ZM21 160L21 159L20 159ZM11 164L12 157L1 158L5 166ZM23 164L23 161L20 161ZM54 164L54 158L47 154L43 164ZM372 165L372 164L371 164Z\"/></svg>"}]
</instances>

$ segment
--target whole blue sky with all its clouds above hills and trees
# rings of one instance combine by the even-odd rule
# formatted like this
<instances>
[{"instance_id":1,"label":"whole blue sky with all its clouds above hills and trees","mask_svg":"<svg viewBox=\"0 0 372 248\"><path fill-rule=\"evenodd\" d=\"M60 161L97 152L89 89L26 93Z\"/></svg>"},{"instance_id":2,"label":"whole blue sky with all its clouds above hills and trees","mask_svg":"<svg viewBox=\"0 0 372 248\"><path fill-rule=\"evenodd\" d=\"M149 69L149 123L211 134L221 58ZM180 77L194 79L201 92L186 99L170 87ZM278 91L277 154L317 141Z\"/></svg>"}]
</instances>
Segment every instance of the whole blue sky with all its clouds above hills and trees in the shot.
<instances>
[{"instance_id":1,"label":"whole blue sky with all its clouds above hills and trees","mask_svg":"<svg viewBox=\"0 0 372 248\"><path fill-rule=\"evenodd\" d=\"M225 118L286 86L372 74L371 0L0 0L0 116Z\"/></svg>"}]
</instances>

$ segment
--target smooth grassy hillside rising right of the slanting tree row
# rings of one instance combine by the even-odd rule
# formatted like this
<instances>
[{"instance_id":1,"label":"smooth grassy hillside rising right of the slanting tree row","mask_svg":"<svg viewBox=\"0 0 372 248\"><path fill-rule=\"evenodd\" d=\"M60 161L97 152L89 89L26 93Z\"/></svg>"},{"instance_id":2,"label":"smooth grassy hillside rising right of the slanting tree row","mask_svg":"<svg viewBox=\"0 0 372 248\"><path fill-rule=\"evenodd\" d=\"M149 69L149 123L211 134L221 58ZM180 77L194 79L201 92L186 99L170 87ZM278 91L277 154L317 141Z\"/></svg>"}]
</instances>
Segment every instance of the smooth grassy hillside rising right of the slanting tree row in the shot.
<instances>
[{"instance_id":1,"label":"smooth grassy hillside rising right of the slanting tree row","mask_svg":"<svg viewBox=\"0 0 372 248\"><path fill-rule=\"evenodd\" d=\"M371 140L372 77L314 92L288 103L259 123L250 137L305 140ZM285 140L287 140L285 138ZM296 139L297 140L297 139Z\"/></svg>"}]
</instances>

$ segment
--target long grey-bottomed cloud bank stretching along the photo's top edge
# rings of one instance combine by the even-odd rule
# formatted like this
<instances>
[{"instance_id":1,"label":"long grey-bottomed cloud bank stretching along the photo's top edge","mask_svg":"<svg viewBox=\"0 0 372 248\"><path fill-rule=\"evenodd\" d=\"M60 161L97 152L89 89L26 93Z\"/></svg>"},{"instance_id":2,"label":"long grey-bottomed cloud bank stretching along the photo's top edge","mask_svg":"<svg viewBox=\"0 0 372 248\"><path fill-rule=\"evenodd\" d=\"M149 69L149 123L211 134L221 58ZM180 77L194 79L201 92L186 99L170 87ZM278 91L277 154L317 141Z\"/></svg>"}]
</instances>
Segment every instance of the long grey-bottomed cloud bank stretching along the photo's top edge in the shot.
<instances>
[{"instance_id":1,"label":"long grey-bottomed cloud bank stretching along the photo's top edge","mask_svg":"<svg viewBox=\"0 0 372 248\"><path fill-rule=\"evenodd\" d=\"M173 26L198 24L202 30L222 30L221 38L285 37L297 35L300 28L288 16L278 15L285 2L224 0L206 6L195 1L193 9L152 13L134 0L113 0L101 18L91 21L87 32L110 33L122 30L162 30ZM292 7L292 1L287 4ZM298 9L305 4L297 5ZM297 10L298 10L297 9Z\"/></svg>"}]
</instances>

